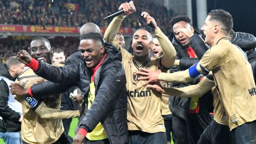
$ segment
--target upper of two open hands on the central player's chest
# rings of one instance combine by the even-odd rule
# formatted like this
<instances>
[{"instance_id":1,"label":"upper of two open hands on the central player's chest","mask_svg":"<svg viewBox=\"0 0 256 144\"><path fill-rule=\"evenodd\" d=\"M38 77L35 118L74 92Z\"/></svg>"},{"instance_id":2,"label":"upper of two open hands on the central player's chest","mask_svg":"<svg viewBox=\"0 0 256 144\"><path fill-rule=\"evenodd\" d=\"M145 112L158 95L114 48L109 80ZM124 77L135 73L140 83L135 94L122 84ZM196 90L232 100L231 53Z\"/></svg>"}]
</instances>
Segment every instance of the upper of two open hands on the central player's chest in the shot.
<instances>
[{"instance_id":1,"label":"upper of two open hands on the central player's chest","mask_svg":"<svg viewBox=\"0 0 256 144\"><path fill-rule=\"evenodd\" d=\"M157 70L157 71L150 71L146 68L140 68L140 71L137 72L137 75L141 75L141 77L139 77L139 80L147 80L146 83L142 84L142 85L147 85L151 82L158 82L158 75L162 73L161 70Z\"/></svg>"}]
</instances>

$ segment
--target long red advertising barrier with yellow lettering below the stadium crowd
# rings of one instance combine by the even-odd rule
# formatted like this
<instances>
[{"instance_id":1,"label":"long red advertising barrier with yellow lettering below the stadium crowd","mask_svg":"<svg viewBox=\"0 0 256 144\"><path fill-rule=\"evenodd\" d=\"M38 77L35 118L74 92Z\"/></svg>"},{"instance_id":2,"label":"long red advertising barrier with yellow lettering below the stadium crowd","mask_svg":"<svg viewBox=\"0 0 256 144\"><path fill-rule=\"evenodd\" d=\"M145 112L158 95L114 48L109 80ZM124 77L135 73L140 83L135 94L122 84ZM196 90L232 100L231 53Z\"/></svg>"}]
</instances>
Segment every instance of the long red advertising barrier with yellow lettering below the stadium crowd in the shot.
<instances>
[{"instance_id":1,"label":"long red advertising barrier with yellow lettering below the stadium crowd","mask_svg":"<svg viewBox=\"0 0 256 144\"><path fill-rule=\"evenodd\" d=\"M104 34L106 28L100 28L101 33ZM131 28L120 28L119 31L123 34L132 34ZM20 26L20 25L0 25L0 32L11 32L11 33L67 33L67 34L78 34L78 27L55 27L55 26Z\"/></svg>"}]
</instances>

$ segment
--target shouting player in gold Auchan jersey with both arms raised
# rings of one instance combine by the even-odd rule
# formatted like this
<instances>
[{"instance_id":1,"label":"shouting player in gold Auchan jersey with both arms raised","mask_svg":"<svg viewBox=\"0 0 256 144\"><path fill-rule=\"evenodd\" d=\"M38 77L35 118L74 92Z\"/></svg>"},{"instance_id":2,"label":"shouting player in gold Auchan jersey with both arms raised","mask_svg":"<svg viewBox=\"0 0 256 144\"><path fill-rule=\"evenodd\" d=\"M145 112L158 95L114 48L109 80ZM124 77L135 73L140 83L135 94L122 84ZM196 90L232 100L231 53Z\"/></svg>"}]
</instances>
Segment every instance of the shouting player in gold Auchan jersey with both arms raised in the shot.
<instances>
[{"instance_id":1,"label":"shouting player in gold Auchan jersey with both arms raised","mask_svg":"<svg viewBox=\"0 0 256 144\"><path fill-rule=\"evenodd\" d=\"M162 57L150 58L149 52L153 47L153 37L145 29L138 29L133 34L133 55L127 52L116 41L116 34L123 19L134 13L133 2L123 3L119 10L124 10L124 15L114 18L104 35L106 42L116 46L122 54L122 65L126 74L126 89L128 94L127 120L131 143L167 143L163 117L161 116L161 94L147 90L139 81L136 72L139 68L150 70L168 70L172 67L176 52L172 43L156 25L154 18L146 12L142 12L147 23L153 22L156 28L153 30L164 51Z\"/></svg>"}]
</instances>

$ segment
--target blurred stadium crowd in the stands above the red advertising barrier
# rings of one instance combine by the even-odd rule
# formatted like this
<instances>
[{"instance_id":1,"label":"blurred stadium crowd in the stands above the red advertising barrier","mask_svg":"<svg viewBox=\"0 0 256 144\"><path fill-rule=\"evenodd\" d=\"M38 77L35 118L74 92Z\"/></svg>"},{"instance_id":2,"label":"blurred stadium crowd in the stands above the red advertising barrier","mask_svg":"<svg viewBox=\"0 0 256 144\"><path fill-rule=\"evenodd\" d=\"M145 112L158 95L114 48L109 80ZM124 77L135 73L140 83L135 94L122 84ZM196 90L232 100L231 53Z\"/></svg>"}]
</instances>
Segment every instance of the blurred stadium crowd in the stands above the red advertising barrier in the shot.
<instances>
[{"instance_id":1,"label":"blurred stadium crowd in the stands above the red advertising barrier","mask_svg":"<svg viewBox=\"0 0 256 144\"><path fill-rule=\"evenodd\" d=\"M83 0L83 1L0 1L0 23L9 25L44 25L44 26L82 26L86 22L97 23L99 27L107 27L108 22L103 18L118 10L124 2L117 0ZM79 6L78 10L70 10L67 3ZM153 1L135 1L138 11L147 11L161 23L163 31L168 31L168 20L173 12L163 5ZM125 20L122 27L138 28L137 18L140 13L134 14L131 19Z\"/></svg>"}]
</instances>

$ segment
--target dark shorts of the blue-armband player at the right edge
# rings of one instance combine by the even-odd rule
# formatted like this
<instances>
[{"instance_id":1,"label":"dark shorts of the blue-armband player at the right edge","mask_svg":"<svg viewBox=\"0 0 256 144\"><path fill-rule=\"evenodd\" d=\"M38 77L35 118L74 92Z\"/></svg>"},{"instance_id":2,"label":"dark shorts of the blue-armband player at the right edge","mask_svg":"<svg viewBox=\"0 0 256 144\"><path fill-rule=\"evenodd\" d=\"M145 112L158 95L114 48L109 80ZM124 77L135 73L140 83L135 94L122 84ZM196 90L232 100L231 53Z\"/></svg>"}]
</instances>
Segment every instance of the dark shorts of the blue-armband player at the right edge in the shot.
<instances>
[{"instance_id":1,"label":"dark shorts of the blue-armband player at the right edge","mask_svg":"<svg viewBox=\"0 0 256 144\"><path fill-rule=\"evenodd\" d=\"M256 143L256 121L244 123L231 131L235 144Z\"/></svg>"}]
</instances>

